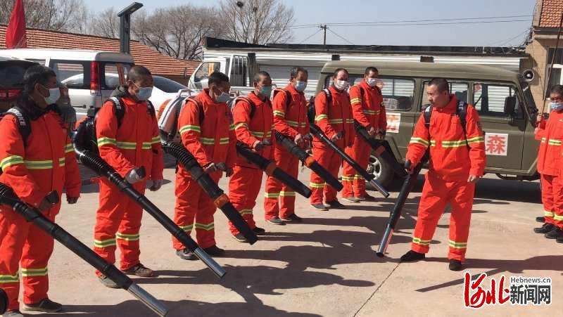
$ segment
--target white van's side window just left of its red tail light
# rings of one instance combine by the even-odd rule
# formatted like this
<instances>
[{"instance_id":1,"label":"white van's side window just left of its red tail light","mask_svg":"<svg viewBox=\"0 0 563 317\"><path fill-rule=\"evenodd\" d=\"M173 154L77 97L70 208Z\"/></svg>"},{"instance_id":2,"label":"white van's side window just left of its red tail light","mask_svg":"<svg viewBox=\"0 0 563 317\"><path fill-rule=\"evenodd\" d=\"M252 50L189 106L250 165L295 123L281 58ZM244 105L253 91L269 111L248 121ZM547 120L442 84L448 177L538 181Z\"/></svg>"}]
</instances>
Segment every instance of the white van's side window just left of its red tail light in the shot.
<instances>
[{"instance_id":1,"label":"white van's side window just left of its red tail light","mask_svg":"<svg viewBox=\"0 0 563 317\"><path fill-rule=\"evenodd\" d=\"M57 75L57 80L70 89L90 89L89 62L51 60L51 69ZM84 76L87 80L84 81Z\"/></svg>"}]
</instances>

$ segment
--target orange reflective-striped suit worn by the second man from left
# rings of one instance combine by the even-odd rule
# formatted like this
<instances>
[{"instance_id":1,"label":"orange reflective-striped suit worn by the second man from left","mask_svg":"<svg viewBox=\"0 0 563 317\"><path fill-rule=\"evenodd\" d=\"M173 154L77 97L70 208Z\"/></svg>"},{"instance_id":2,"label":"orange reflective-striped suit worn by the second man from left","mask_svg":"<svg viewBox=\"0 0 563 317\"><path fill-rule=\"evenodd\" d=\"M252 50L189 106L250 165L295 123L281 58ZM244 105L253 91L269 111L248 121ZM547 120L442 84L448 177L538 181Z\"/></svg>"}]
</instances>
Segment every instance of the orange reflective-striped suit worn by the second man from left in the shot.
<instances>
[{"instance_id":1,"label":"orange reflective-striped suit worn by the second man from left","mask_svg":"<svg viewBox=\"0 0 563 317\"><path fill-rule=\"evenodd\" d=\"M144 167L146 179L163 179L163 150L153 110L146 101L131 96L120 98L125 108L120 127L115 107L106 101L96 119L96 136L100 156L121 176L134 168ZM144 193L146 179L133 187ZM100 179L99 209L94 227L94 251L109 263L115 263L115 247L120 248L120 268L139 264L139 229L143 209L106 178ZM96 274L100 275L99 271Z\"/></svg>"}]
</instances>

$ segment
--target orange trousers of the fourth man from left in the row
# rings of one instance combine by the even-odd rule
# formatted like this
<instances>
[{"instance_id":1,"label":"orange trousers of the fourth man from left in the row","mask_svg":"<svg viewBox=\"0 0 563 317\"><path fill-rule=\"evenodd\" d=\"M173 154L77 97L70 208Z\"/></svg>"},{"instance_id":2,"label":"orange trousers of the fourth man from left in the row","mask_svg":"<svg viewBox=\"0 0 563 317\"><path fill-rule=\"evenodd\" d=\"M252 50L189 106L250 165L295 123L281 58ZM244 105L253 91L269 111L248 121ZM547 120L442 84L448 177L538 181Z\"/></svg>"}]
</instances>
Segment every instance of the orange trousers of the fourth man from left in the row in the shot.
<instances>
[{"instance_id":1,"label":"orange trousers of the fourth man from left in the row","mask_svg":"<svg viewBox=\"0 0 563 317\"><path fill-rule=\"evenodd\" d=\"M249 167L235 166L229 179L229 200L239 211L248 226L256 227L252 209L256 205L256 198L262 185L262 170ZM239 234L236 227L229 221L229 231L232 235Z\"/></svg>"}]
</instances>

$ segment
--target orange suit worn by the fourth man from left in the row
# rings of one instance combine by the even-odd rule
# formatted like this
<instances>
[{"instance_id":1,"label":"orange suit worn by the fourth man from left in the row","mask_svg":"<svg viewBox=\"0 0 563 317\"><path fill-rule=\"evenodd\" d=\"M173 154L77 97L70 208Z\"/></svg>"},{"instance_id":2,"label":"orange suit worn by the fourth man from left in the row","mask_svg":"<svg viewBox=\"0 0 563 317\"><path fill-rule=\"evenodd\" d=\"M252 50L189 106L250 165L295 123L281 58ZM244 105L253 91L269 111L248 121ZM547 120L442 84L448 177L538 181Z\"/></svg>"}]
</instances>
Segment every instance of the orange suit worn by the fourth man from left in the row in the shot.
<instances>
[{"instance_id":1,"label":"orange suit worn by the fourth man from left in the row","mask_svg":"<svg viewBox=\"0 0 563 317\"><path fill-rule=\"evenodd\" d=\"M248 99L254 105L253 111L251 104L244 98L236 101L232 110L234 132L238 141L249 148L254 148L260 141L272 141L272 104L270 99L262 101L254 92L248 94ZM251 112L253 112L252 117ZM271 160L272 152L272 146L266 146L259 154ZM251 229L256 228L252 209L256 205L261 185L262 169L239 155L234 163L233 175L229 180L229 200ZM233 235L239 234L230 221L229 230Z\"/></svg>"}]
</instances>

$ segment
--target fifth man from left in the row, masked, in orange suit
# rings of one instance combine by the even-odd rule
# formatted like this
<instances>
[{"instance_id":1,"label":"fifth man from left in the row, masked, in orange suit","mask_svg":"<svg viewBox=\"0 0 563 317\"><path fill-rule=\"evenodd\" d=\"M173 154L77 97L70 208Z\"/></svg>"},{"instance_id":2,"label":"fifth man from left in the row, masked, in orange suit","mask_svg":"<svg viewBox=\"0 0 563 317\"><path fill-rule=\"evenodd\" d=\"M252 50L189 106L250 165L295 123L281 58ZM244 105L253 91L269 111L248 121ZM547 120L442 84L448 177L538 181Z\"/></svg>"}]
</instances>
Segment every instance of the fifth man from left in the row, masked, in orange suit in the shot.
<instances>
[{"instance_id":1,"label":"fifth man from left in the row, masked, in orange suit","mask_svg":"<svg viewBox=\"0 0 563 317\"><path fill-rule=\"evenodd\" d=\"M293 67L289 72L289 84L284 89L274 91L272 106L274 110L274 129L292 138L301 148L310 146L309 121L307 119L308 72L303 67ZM274 161L280 169L297 179L298 157L285 148L274 146ZM265 219L270 224L284 225L285 221L301 222L295 213L296 193L289 186L272 176L266 180L264 194Z\"/></svg>"}]
</instances>

